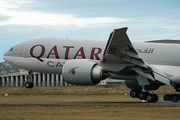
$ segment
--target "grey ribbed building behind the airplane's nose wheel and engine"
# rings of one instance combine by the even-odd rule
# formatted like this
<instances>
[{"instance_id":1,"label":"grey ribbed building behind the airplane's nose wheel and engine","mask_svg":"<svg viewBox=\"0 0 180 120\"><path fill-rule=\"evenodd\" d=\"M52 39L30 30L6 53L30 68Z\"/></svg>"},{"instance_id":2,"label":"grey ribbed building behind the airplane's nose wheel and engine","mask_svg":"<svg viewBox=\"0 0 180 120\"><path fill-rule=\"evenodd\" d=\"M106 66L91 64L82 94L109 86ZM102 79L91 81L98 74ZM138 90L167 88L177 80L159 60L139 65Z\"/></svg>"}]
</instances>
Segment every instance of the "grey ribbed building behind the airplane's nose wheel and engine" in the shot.
<instances>
[{"instance_id":1,"label":"grey ribbed building behind the airplane's nose wheel and engine","mask_svg":"<svg viewBox=\"0 0 180 120\"><path fill-rule=\"evenodd\" d=\"M66 83L60 74L33 73L34 86L72 86ZM1 86L24 86L27 82L27 71L18 69L6 62L0 63L0 87ZM106 79L99 85L121 84L124 81Z\"/></svg>"}]
</instances>

